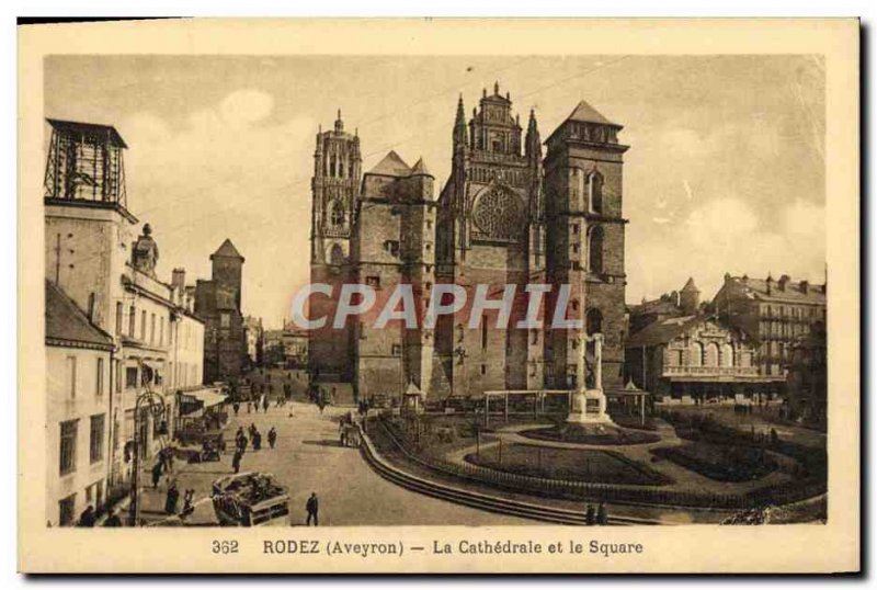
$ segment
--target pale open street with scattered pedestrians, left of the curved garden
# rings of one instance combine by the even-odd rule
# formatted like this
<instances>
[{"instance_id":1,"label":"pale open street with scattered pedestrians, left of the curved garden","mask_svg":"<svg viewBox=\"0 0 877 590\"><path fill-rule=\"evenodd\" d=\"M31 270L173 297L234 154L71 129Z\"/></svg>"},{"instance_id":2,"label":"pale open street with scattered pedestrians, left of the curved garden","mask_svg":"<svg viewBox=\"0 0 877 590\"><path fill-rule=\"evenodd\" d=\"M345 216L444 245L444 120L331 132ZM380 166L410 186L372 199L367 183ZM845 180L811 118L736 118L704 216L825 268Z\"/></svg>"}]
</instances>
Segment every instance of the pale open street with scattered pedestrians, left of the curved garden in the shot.
<instances>
[{"instance_id":1,"label":"pale open street with scattered pedestrians, left of the curved garden","mask_svg":"<svg viewBox=\"0 0 877 590\"><path fill-rule=\"evenodd\" d=\"M289 417L291 410L293 417ZM193 488L196 501L206 498L214 479L232 473L231 447L238 427L246 430L254 423L262 433L262 450L248 447L241 472L273 473L288 487L293 524L304 524L305 501L311 491L320 498L320 525L534 524L529 520L422 496L383 479L365 463L358 450L340 445L334 419L345 411L345 408L327 407L320 415L312 404L292 402L284 408L271 407L267 413L248 413L244 405L237 417L234 413L229 417L226 428L229 449L219 463L175 463L178 489L182 493ZM266 440L272 426L277 429L274 450ZM144 479L147 480L148 477ZM145 492L145 509L148 506L160 510L163 489L162 481L159 492ZM179 506L182 507L182 501ZM198 512L203 513L208 507L209 502L205 502Z\"/></svg>"}]
</instances>

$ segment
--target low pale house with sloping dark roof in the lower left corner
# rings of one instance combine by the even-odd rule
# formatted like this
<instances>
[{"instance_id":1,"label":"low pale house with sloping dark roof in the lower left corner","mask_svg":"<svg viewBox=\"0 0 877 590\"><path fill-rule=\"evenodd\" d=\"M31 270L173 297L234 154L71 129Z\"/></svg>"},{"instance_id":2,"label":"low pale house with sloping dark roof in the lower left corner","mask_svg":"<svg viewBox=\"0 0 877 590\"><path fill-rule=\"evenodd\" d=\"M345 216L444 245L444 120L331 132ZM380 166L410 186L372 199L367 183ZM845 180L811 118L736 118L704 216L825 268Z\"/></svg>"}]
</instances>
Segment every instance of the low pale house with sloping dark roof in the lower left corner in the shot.
<instances>
[{"instance_id":1,"label":"low pale house with sloping dark roof in the lower left corner","mask_svg":"<svg viewBox=\"0 0 877 590\"><path fill-rule=\"evenodd\" d=\"M70 526L106 496L113 338L46 281L46 518Z\"/></svg>"}]
</instances>

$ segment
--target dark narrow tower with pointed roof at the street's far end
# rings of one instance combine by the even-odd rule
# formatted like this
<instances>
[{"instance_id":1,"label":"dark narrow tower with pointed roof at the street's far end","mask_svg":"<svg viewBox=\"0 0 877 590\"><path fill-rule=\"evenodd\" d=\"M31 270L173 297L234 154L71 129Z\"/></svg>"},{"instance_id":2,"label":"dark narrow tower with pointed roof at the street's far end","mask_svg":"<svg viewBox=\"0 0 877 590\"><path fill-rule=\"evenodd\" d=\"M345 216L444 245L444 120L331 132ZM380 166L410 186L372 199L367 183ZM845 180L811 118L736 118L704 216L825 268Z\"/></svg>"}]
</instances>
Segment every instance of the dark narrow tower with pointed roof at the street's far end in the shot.
<instances>
[{"instance_id":1,"label":"dark narrow tower with pointed roof at the street's far end","mask_svg":"<svg viewBox=\"0 0 877 590\"><path fill-rule=\"evenodd\" d=\"M243 257L226 239L210 254L209 281L195 284L195 315L206 322L204 382L228 382L247 368L247 338L241 306Z\"/></svg>"}]
</instances>

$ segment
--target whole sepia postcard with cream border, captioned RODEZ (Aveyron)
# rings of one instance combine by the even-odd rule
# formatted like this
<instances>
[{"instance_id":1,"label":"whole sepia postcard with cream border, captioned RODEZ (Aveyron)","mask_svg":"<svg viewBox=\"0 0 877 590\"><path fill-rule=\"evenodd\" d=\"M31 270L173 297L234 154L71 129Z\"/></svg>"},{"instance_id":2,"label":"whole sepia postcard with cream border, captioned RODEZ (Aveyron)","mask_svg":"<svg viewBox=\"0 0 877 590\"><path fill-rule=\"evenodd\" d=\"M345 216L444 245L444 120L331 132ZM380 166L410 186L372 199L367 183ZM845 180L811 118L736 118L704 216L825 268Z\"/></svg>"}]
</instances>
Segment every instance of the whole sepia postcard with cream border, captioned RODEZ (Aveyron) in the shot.
<instances>
[{"instance_id":1,"label":"whole sepia postcard with cream border, captioned RODEZ (Aveyron)","mask_svg":"<svg viewBox=\"0 0 877 590\"><path fill-rule=\"evenodd\" d=\"M21 26L20 569L858 571L858 36Z\"/></svg>"}]
</instances>

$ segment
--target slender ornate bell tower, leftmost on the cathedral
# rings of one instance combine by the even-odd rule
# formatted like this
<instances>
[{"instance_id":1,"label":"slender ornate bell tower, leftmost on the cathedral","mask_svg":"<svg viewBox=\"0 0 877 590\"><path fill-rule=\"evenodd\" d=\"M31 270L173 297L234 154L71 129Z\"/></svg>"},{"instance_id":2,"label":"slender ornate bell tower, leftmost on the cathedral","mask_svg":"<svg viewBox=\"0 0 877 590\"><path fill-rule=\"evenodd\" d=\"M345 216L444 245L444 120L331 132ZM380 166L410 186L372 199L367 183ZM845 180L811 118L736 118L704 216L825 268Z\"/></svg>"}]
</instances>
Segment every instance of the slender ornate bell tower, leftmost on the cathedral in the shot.
<instances>
[{"instance_id":1,"label":"slender ornate bell tower, leftmost on the cathedral","mask_svg":"<svg viewBox=\"0 0 877 590\"><path fill-rule=\"evenodd\" d=\"M344 131L341 110L334 128L317 134L311 180L310 282L333 285L333 297L310 298L311 317L334 317L339 290L350 275L350 240L360 191L360 138ZM309 366L320 381L348 381L353 364L350 330L310 332Z\"/></svg>"}]
</instances>

